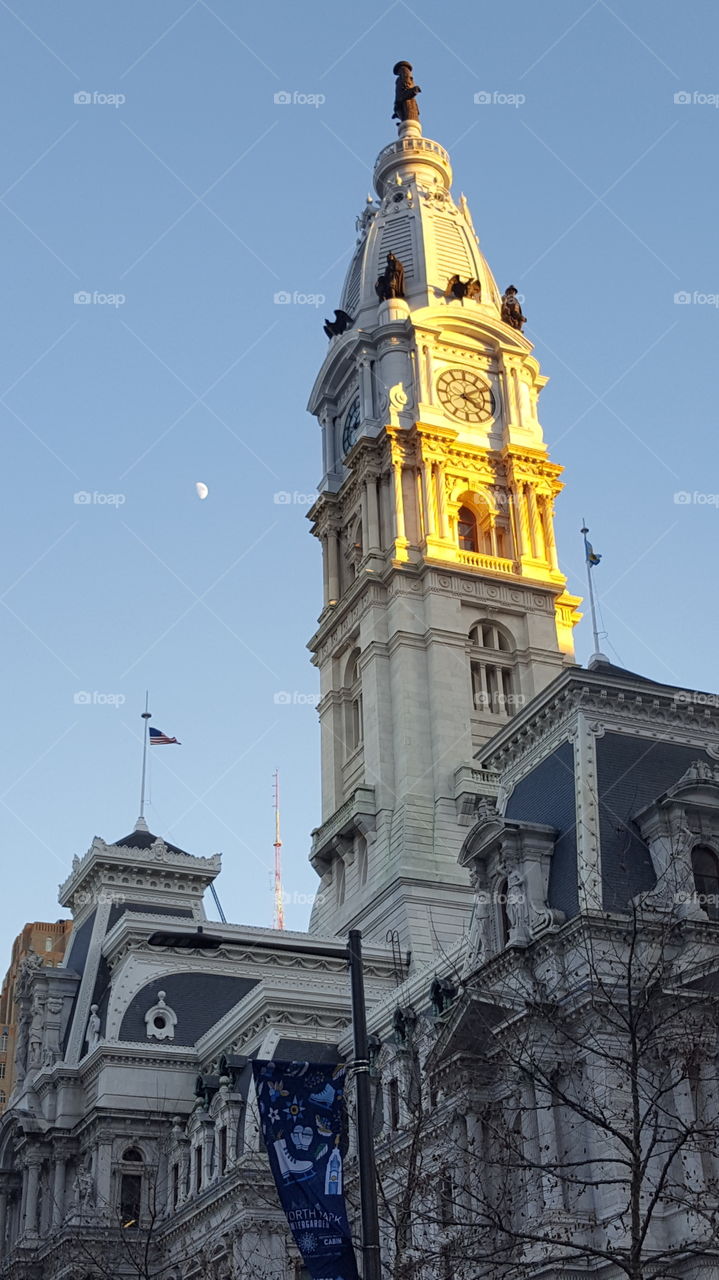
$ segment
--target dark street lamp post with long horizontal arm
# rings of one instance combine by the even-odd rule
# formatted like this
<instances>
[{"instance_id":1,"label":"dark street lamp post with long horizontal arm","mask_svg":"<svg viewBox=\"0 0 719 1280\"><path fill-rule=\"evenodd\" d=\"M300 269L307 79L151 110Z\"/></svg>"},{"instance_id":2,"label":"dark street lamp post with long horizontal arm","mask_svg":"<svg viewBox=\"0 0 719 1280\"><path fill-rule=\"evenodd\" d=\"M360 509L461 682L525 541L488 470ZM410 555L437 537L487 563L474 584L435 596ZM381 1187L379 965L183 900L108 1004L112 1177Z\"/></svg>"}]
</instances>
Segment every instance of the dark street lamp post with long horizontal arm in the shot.
<instances>
[{"instance_id":1,"label":"dark street lamp post with long horizontal arm","mask_svg":"<svg viewBox=\"0 0 719 1280\"><path fill-rule=\"evenodd\" d=\"M229 938L206 933L202 925L196 933L174 933L159 929L147 940L151 947L177 947L186 951L217 951L220 946L256 947L276 951L278 943L269 938ZM283 938L283 942L285 940ZM283 947L284 950L284 947ZM381 1280L380 1220L377 1211L377 1179L375 1169L375 1143L372 1138L372 1106L370 1097L370 1060L367 1046L367 1011L365 1005L365 974L362 968L362 934L351 929L345 947L328 945L302 945L302 955L347 960L352 993L352 1030L354 1041L354 1073L357 1079L357 1164L360 1170L360 1201L362 1206L362 1276L363 1280Z\"/></svg>"}]
</instances>

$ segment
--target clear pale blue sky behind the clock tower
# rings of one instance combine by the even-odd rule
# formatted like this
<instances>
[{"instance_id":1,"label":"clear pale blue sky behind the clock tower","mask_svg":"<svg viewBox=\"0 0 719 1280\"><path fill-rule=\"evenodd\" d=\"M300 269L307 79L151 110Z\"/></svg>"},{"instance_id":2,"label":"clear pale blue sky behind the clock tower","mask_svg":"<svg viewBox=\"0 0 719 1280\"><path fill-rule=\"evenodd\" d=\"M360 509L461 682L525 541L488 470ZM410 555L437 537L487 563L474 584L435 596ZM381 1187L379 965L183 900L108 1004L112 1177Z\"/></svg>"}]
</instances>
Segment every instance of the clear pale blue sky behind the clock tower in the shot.
<instances>
[{"instance_id":1,"label":"clear pale blue sky behind the clock tower","mask_svg":"<svg viewBox=\"0 0 719 1280\"><path fill-rule=\"evenodd\" d=\"M183 742L152 753L151 827L221 850L225 913L270 924L279 768L287 920L307 920L321 567L304 406L400 58L551 378L569 586L586 516L610 654L715 686L718 27L709 0L3 0L6 950L60 914L95 833L132 828L146 687Z\"/></svg>"}]
</instances>

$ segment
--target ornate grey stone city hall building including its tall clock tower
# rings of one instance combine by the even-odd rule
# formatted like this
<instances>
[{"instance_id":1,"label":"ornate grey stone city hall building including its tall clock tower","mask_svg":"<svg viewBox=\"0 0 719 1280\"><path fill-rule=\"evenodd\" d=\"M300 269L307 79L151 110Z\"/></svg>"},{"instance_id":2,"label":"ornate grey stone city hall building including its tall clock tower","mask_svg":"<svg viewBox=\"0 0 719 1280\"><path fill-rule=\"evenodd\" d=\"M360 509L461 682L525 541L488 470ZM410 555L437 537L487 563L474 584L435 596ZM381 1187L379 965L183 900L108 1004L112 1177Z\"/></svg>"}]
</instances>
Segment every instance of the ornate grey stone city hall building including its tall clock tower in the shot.
<instances>
[{"instance_id":1,"label":"ornate grey stone city hall building including its tall clock tower","mask_svg":"<svg viewBox=\"0 0 719 1280\"><path fill-rule=\"evenodd\" d=\"M1 1276L303 1275L251 1062L352 1059L351 928L384 1274L719 1275L716 707L577 666L546 378L395 74L310 397L310 931L183 946L220 858L143 820L74 858L64 960L15 988Z\"/></svg>"}]
</instances>

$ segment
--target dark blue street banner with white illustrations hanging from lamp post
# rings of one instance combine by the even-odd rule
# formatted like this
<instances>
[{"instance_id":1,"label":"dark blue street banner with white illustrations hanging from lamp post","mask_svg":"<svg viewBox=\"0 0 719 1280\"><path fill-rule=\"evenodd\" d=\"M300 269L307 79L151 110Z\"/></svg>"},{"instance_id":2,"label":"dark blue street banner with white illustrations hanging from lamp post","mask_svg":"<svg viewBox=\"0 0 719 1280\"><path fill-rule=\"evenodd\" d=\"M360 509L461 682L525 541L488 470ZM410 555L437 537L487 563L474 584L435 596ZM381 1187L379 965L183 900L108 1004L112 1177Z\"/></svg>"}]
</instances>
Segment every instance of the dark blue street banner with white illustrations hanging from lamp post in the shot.
<instances>
[{"instance_id":1,"label":"dark blue street banner with white illustrations hanging from lamp post","mask_svg":"<svg viewBox=\"0 0 719 1280\"><path fill-rule=\"evenodd\" d=\"M281 1207L312 1280L358 1280L343 1190L345 1068L252 1064Z\"/></svg>"}]
</instances>

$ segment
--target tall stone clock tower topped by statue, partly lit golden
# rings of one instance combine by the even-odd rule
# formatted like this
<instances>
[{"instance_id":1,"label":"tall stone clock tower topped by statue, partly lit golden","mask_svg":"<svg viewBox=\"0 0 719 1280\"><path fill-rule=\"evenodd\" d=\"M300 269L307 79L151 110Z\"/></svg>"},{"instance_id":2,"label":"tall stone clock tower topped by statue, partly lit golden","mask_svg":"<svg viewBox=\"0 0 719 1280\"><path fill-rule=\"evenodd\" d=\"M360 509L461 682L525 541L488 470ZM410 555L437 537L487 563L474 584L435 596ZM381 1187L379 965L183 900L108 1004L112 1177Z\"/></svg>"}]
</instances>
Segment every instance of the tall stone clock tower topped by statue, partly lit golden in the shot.
<instances>
[{"instance_id":1,"label":"tall stone clock tower topped by statue, partly lit golden","mask_svg":"<svg viewBox=\"0 0 719 1280\"><path fill-rule=\"evenodd\" d=\"M311 928L397 931L403 955L431 963L471 910L457 856L493 792L475 754L573 662L580 602L554 543L546 379L452 196L449 155L422 136L411 72L395 68L398 138L377 156L308 406L324 453Z\"/></svg>"}]
</instances>

